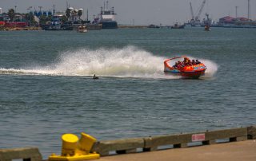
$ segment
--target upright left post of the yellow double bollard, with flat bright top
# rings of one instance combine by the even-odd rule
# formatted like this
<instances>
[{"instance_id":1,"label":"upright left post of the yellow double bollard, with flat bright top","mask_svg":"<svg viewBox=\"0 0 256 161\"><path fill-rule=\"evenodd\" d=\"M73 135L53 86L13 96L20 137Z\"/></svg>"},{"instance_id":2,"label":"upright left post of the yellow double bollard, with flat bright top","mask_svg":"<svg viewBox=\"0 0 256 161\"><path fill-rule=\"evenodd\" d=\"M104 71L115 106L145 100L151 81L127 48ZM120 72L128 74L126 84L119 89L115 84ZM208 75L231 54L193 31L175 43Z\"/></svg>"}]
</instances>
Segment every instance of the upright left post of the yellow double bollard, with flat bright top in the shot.
<instances>
[{"instance_id":1,"label":"upright left post of the yellow double bollard, with flat bright top","mask_svg":"<svg viewBox=\"0 0 256 161\"><path fill-rule=\"evenodd\" d=\"M74 134L62 135L62 156L75 155L75 149L77 148L78 136Z\"/></svg>"}]
</instances>

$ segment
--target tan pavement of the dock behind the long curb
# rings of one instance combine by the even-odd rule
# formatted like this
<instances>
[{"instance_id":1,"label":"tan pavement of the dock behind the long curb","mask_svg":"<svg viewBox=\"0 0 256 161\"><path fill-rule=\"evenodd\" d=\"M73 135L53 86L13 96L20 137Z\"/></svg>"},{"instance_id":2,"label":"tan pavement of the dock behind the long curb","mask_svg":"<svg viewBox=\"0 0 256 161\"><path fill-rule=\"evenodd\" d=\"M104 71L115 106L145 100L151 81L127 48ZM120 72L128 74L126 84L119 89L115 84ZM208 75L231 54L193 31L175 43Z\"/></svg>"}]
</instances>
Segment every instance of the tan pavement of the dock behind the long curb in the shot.
<instances>
[{"instance_id":1,"label":"tan pavement of the dock behind the long curb","mask_svg":"<svg viewBox=\"0 0 256 161\"><path fill-rule=\"evenodd\" d=\"M256 140L249 139L241 142L217 143L214 145L151 151L127 155L105 156L98 161L255 161Z\"/></svg>"}]
</instances>

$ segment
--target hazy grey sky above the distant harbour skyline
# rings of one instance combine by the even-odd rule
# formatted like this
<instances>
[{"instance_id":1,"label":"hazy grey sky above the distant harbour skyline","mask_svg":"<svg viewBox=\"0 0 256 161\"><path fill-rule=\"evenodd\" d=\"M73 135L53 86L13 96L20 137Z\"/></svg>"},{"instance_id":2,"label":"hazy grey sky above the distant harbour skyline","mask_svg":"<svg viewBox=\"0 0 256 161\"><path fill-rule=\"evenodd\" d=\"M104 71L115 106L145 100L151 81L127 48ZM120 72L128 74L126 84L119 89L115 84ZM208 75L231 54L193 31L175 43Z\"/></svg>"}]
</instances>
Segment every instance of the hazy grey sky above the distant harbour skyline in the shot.
<instances>
[{"instance_id":1,"label":"hazy grey sky above the distant harbour skyline","mask_svg":"<svg viewBox=\"0 0 256 161\"><path fill-rule=\"evenodd\" d=\"M100 12L104 0L68 0L70 6L89 10L89 19ZM191 18L190 2L192 2L194 13L197 13L202 0L109 0L109 6L114 6L117 13L116 19L119 24L148 25L164 24L172 25L174 22L187 22ZM29 6L38 10L66 10L66 0L0 0L0 8L7 12L10 8L17 6L17 12L26 13ZM227 15L235 17L235 6L238 6L238 17L247 18L248 0L206 0L202 10L201 18L205 13L217 21L218 18ZM86 18L84 15L83 18ZM250 0L250 18L256 19L256 0Z\"/></svg>"}]
</instances>

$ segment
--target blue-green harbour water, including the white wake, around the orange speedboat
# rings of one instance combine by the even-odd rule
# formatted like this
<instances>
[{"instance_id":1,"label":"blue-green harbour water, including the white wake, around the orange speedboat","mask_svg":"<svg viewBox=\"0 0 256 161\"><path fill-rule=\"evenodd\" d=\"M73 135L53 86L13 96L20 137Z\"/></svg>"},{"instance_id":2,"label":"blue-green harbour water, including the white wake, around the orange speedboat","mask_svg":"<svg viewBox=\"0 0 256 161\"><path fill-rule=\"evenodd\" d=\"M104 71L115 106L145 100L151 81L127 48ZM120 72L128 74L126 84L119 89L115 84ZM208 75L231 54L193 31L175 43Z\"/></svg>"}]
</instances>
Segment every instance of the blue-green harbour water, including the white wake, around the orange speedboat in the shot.
<instances>
[{"instance_id":1,"label":"blue-green harbour water, including the white wake, around the orange speedboat","mask_svg":"<svg viewBox=\"0 0 256 161\"><path fill-rule=\"evenodd\" d=\"M256 29L0 32L0 148L60 154L61 135L98 140L256 124ZM186 55L199 80L163 73ZM99 79L93 80L93 74Z\"/></svg>"}]
</instances>

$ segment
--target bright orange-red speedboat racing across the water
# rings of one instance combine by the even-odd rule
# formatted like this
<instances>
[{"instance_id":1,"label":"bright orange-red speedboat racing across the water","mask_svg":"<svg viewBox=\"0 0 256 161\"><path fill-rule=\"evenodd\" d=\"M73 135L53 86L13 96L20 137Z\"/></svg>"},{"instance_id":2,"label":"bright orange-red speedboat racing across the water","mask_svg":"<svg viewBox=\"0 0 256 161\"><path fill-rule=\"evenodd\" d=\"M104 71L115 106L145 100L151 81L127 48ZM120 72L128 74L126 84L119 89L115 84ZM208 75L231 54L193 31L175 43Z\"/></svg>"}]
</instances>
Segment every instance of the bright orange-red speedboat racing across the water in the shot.
<instances>
[{"instance_id":1,"label":"bright orange-red speedboat racing across the water","mask_svg":"<svg viewBox=\"0 0 256 161\"><path fill-rule=\"evenodd\" d=\"M164 72L170 73L175 76L180 76L184 78L194 78L197 79L199 77L202 77L205 72L206 72L206 65L203 63L199 62L194 65L182 65L182 66L175 66L175 65L170 65L174 64L175 61L182 61L182 58L188 59L188 57L173 57L170 59L167 59L164 61Z\"/></svg>"}]
</instances>

